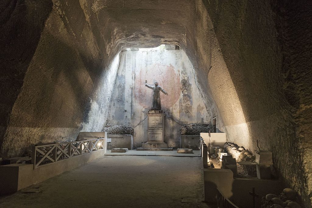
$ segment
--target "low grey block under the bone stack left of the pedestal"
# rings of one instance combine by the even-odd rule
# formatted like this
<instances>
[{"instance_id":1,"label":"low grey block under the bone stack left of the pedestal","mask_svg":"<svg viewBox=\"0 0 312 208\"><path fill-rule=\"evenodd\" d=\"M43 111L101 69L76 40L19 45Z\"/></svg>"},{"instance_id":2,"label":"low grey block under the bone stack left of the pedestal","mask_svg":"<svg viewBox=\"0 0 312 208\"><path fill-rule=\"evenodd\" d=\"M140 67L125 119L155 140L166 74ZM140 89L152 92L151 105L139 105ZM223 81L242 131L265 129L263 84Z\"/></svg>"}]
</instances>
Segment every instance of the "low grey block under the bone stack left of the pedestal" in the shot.
<instances>
[{"instance_id":1,"label":"low grey block under the bone stack left of the pedestal","mask_svg":"<svg viewBox=\"0 0 312 208\"><path fill-rule=\"evenodd\" d=\"M109 134L107 137L111 139L111 142L107 144L108 150L113 148L133 149L133 136L131 134Z\"/></svg>"}]
</instances>

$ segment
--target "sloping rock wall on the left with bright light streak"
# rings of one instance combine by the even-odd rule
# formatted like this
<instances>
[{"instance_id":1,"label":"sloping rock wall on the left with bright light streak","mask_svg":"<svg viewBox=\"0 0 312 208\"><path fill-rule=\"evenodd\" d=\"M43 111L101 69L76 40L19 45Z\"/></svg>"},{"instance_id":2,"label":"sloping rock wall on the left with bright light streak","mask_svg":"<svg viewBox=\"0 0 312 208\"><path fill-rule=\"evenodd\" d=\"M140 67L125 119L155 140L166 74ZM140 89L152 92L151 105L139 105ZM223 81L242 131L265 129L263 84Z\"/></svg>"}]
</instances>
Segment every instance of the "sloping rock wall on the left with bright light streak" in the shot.
<instances>
[{"instance_id":1,"label":"sloping rock wall on the left with bright light streak","mask_svg":"<svg viewBox=\"0 0 312 208\"><path fill-rule=\"evenodd\" d=\"M1 97L6 98L1 99L1 155L76 139L80 130L101 131L119 56L118 49L98 44L87 5L6 3L0 41Z\"/></svg>"}]
</instances>

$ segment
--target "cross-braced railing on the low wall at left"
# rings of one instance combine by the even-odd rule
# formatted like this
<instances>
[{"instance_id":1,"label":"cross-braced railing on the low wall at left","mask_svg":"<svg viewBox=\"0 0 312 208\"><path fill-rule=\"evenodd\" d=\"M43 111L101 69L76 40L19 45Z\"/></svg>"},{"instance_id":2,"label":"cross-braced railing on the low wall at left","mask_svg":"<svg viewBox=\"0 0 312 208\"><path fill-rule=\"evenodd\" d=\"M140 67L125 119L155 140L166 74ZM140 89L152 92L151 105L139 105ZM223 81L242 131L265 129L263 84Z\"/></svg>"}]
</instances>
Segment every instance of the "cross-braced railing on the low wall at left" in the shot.
<instances>
[{"instance_id":1,"label":"cross-braced railing on the low wall at left","mask_svg":"<svg viewBox=\"0 0 312 208\"><path fill-rule=\"evenodd\" d=\"M104 138L35 145L32 151L34 169L59 160L103 150Z\"/></svg>"}]
</instances>

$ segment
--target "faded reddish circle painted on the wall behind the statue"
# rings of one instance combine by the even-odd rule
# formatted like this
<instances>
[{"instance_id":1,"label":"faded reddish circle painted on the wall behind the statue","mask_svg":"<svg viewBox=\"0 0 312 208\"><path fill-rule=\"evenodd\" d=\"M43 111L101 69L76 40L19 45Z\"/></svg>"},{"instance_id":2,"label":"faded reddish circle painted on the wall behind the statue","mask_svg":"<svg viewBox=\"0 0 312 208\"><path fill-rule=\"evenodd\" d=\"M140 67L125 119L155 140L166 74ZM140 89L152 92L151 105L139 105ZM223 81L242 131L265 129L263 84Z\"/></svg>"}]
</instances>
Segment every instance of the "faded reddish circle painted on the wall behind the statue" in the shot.
<instances>
[{"instance_id":1,"label":"faded reddish circle painted on the wall behind the statue","mask_svg":"<svg viewBox=\"0 0 312 208\"><path fill-rule=\"evenodd\" d=\"M175 73L171 64L169 66L160 63L153 64L141 68L135 76L134 98L143 108L151 108L153 97L153 90L145 87L145 80L152 86L157 81L158 85L168 92L168 96L160 92L162 109L171 108L180 98L180 75Z\"/></svg>"}]
</instances>

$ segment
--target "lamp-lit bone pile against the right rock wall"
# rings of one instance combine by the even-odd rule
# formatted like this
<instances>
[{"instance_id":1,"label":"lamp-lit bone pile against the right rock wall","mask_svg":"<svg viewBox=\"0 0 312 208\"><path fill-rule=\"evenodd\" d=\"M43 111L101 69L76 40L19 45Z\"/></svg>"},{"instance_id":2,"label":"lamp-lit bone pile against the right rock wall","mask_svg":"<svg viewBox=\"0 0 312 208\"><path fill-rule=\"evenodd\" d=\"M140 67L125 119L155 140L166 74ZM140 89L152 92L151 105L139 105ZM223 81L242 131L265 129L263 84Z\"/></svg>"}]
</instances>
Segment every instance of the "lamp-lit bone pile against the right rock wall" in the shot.
<instances>
[{"instance_id":1,"label":"lamp-lit bone pile against the right rock wall","mask_svg":"<svg viewBox=\"0 0 312 208\"><path fill-rule=\"evenodd\" d=\"M226 150L229 155L232 155L237 162L255 162L256 160L256 157L249 151L245 150L244 147L239 147L231 142L226 142L224 144L224 150ZM242 165L242 169L244 172L240 175L249 175L253 177L257 175L255 165Z\"/></svg>"}]
</instances>

